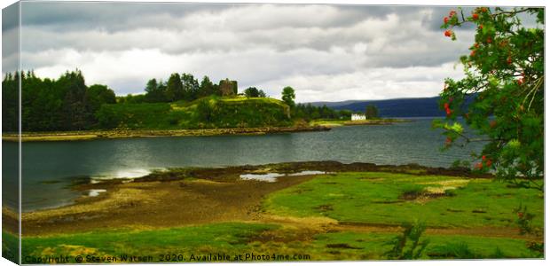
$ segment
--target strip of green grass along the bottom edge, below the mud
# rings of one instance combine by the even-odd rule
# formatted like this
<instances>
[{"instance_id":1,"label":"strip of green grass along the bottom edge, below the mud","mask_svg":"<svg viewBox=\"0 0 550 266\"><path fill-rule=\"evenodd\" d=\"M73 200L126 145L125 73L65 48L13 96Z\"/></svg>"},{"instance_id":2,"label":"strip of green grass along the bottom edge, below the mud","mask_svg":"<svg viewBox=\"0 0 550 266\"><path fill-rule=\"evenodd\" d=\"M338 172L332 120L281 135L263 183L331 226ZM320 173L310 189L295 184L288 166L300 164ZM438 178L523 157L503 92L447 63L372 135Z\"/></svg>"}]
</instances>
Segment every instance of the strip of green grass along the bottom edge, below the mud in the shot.
<instances>
[{"instance_id":1,"label":"strip of green grass along the bottom edge, below the mud","mask_svg":"<svg viewBox=\"0 0 550 266\"><path fill-rule=\"evenodd\" d=\"M397 233L387 232L326 232L308 241L302 239L257 240L262 233L297 235L300 231L284 229L274 224L213 223L200 226L153 231L91 231L72 235L25 238L23 258L46 255L120 256L137 254L152 256L162 262L165 254L183 254L185 262L191 255L282 254L309 256L308 261L381 260L391 246L389 240ZM4 238L15 239L4 233ZM537 254L530 251L525 240L476 236L426 235L429 244L422 259L482 259L526 258ZM297 259L295 259L297 260ZM183 262L182 260L179 260ZM233 261L233 260L232 260Z\"/></svg>"}]
</instances>

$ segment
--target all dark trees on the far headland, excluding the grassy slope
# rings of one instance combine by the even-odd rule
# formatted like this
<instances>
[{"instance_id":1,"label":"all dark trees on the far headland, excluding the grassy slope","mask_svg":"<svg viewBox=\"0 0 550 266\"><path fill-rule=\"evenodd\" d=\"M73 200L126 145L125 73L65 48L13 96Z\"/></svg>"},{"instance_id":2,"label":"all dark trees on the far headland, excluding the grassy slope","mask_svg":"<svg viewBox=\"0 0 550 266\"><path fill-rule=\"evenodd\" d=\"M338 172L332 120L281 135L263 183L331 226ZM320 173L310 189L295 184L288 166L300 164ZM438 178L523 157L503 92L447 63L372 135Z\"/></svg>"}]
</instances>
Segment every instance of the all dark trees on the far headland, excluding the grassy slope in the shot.
<instances>
[{"instance_id":1,"label":"all dark trees on the far headland, excluding the grassy slope","mask_svg":"<svg viewBox=\"0 0 550 266\"><path fill-rule=\"evenodd\" d=\"M104 105L190 102L210 96L238 95L235 81L226 79L214 83L204 76L199 82L193 74L170 74L167 82L151 79L145 84L145 94L116 97L114 90L106 85L87 86L80 70L67 71L58 79L42 79L33 71L15 72L6 74L2 82L4 132L18 131L19 80L22 131L105 129L105 117L102 116L108 112L100 112ZM283 102L290 107L293 120L350 118L350 111L335 111L327 106L310 104L295 105L295 90L291 87L285 87L281 94ZM247 98L267 97L263 90L255 87L243 90L240 95ZM147 106L143 107L148 110ZM200 107L203 106L199 106L199 110L204 109Z\"/></svg>"}]
</instances>

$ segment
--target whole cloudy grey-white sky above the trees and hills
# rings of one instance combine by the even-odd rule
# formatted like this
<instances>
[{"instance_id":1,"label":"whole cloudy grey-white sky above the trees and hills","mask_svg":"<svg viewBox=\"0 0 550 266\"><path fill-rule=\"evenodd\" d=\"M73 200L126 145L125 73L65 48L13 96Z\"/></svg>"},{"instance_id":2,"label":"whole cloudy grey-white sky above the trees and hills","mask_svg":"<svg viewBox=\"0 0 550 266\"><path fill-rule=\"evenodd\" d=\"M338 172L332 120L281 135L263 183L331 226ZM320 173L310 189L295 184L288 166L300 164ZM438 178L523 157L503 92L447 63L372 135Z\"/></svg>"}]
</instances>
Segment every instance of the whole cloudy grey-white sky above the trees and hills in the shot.
<instances>
[{"instance_id":1,"label":"whole cloudy grey-white sky above the trees and hills","mask_svg":"<svg viewBox=\"0 0 550 266\"><path fill-rule=\"evenodd\" d=\"M455 42L444 37L439 27L450 9L23 3L21 64L51 78L79 68L89 85L119 95L185 72L227 77L275 98L292 86L299 102L428 97L445 77L461 76L458 58L473 42L472 29ZM4 20L3 35L16 36L16 24ZM15 64L4 46L4 66Z\"/></svg>"}]
</instances>

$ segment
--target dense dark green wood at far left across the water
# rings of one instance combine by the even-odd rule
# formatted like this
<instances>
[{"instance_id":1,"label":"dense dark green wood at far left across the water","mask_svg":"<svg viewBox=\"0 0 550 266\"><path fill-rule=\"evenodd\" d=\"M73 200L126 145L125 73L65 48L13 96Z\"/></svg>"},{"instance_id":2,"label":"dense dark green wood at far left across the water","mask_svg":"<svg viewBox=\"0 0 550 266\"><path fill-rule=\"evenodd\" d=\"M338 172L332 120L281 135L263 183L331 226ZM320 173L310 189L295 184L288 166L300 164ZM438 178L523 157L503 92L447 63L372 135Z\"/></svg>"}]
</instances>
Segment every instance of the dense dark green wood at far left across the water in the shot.
<instances>
[{"instance_id":1,"label":"dense dark green wood at far left across the water","mask_svg":"<svg viewBox=\"0 0 550 266\"><path fill-rule=\"evenodd\" d=\"M113 90L100 84L86 86L79 70L67 71L57 80L41 79L33 71L6 74L2 81L4 131L19 127L19 80L23 131L92 129L98 125L98 109L116 103Z\"/></svg>"}]
</instances>

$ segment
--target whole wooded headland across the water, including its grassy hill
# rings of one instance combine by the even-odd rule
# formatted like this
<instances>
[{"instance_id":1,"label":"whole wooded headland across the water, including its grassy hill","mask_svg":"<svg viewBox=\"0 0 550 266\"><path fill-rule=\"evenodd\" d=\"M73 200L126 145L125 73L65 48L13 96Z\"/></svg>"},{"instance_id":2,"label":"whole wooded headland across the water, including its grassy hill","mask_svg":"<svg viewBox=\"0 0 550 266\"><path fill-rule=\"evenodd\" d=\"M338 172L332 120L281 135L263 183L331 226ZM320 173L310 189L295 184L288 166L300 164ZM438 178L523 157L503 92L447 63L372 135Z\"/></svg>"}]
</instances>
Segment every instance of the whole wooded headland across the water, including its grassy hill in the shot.
<instances>
[{"instance_id":1,"label":"whole wooded headland across the water, including its grassy hill","mask_svg":"<svg viewBox=\"0 0 550 266\"><path fill-rule=\"evenodd\" d=\"M79 70L67 71L56 80L42 79L28 71L4 76L2 108L6 132L17 131L18 127L19 78L22 131L290 126L293 121L350 118L350 111L346 110L295 105L294 89L290 87L283 92L283 102L267 98L263 90L255 87L243 90L237 97L237 82L226 79L214 83L208 76L199 82L193 74L175 73L167 82L149 80L144 94L116 97L106 85L87 86ZM291 97L285 93L291 93ZM265 100L249 101L254 98ZM182 107L177 112L170 105Z\"/></svg>"}]
</instances>

